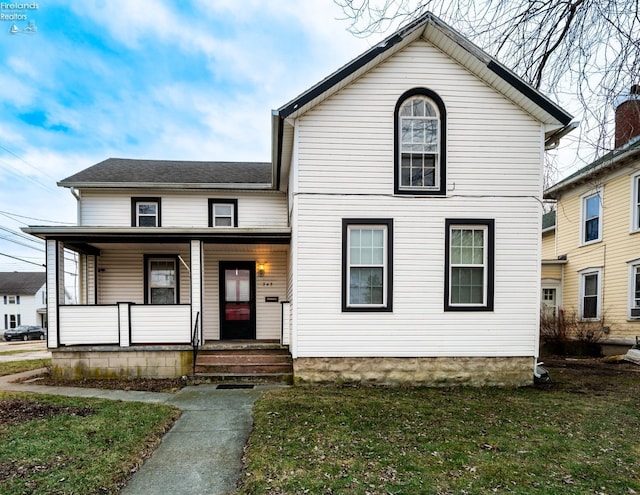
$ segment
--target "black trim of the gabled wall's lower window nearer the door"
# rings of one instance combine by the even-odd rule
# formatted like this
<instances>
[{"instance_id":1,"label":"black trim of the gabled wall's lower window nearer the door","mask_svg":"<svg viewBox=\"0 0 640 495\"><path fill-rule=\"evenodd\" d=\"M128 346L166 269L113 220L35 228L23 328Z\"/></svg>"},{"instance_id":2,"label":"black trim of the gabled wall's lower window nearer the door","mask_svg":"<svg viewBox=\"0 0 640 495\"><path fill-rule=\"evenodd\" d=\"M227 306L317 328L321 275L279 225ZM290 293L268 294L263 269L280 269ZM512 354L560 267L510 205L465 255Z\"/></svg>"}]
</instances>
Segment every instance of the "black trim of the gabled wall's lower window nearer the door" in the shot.
<instances>
[{"instance_id":1,"label":"black trim of the gabled wall's lower window nearer the door","mask_svg":"<svg viewBox=\"0 0 640 495\"><path fill-rule=\"evenodd\" d=\"M379 307L349 306L349 288L347 287L347 266L349 244L348 229L351 225L384 225L387 228L387 286L385 287L387 304ZM342 219L342 312L370 313L393 311L393 218L343 218Z\"/></svg>"}]
</instances>

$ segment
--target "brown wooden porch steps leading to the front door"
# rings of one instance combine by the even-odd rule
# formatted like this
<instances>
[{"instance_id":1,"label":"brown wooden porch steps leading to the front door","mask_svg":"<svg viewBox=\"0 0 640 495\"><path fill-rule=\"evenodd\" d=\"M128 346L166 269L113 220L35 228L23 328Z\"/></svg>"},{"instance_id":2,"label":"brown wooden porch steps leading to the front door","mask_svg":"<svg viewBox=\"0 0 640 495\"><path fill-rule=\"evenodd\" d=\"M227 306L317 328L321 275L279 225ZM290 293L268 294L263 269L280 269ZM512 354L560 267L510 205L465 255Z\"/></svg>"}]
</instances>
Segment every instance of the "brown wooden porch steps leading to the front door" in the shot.
<instances>
[{"instance_id":1,"label":"brown wooden porch steps leading to the front door","mask_svg":"<svg viewBox=\"0 0 640 495\"><path fill-rule=\"evenodd\" d=\"M286 347L208 346L198 352L195 378L209 381L278 381L291 382L293 360Z\"/></svg>"}]
</instances>

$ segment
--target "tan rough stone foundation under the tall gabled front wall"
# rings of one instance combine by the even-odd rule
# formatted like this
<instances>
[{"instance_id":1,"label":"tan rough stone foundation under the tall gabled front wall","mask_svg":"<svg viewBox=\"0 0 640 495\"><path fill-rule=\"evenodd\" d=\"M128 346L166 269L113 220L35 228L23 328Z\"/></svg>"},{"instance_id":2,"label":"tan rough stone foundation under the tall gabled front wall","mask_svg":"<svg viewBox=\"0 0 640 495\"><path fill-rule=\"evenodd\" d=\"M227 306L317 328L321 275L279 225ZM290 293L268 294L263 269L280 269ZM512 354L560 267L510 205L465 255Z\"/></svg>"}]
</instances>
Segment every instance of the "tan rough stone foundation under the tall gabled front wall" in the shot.
<instances>
[{"instance_id":1,"label":"tan rough stone foundation under the tall gabled front wall","mask_svg":"<svg viewBox=\"0 0 640 495\"><path fill-rule=\"evenodd\" d=\"M341 357L293 361L296 384L497 386L533 384L533 357Z\"/></svg>"}]
</instances>

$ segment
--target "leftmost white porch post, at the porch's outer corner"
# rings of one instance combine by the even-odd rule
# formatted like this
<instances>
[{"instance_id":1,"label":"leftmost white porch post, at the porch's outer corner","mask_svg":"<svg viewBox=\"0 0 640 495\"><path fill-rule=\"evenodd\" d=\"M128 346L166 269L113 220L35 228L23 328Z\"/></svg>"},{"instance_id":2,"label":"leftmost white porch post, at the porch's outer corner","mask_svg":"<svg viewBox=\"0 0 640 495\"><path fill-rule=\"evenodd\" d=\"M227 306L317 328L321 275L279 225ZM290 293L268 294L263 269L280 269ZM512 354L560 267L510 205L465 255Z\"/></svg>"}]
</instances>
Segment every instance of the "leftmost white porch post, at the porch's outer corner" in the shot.
<instances>
[{"instance_id":1,"label":"leftmost white porch post, at the porch's outer corner","mask_svg":"<svg viewBox=\"0 0 640 495\"><path fill-rule=\"evenodd\" d=\"M64 247L61 242L47 239L47 347L58 347L58 306L64 299Z\"/></svg>"}]
</instances>

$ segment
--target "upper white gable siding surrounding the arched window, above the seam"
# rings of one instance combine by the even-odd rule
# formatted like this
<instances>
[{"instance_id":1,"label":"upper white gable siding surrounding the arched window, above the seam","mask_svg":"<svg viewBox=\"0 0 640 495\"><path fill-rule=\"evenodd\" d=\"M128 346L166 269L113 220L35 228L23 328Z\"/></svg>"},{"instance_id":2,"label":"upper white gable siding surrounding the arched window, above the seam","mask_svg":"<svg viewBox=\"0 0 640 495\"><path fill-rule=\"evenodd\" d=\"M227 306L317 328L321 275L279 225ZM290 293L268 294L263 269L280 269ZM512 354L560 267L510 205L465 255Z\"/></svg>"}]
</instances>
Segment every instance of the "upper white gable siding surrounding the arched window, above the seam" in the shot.
<instances>
[{"instance_id":1,"label":"upper white gable siding surrounding the arched window, above the seam","mask_svg":"<svg viewBox=\"0 0 640 495\"><path fill-rule=\"evenodd\" d=\"M543 126L422 41L299 119L296 191L392 193L394 108L420 87L447 108L447 194L541 194Z\"/></svg>"}]
</instances>

